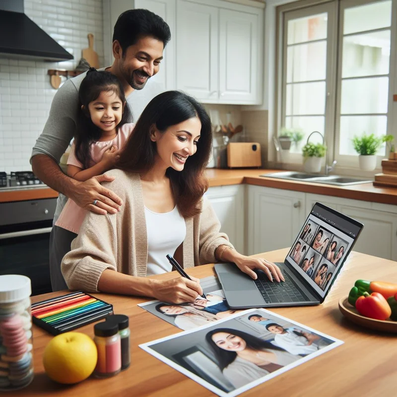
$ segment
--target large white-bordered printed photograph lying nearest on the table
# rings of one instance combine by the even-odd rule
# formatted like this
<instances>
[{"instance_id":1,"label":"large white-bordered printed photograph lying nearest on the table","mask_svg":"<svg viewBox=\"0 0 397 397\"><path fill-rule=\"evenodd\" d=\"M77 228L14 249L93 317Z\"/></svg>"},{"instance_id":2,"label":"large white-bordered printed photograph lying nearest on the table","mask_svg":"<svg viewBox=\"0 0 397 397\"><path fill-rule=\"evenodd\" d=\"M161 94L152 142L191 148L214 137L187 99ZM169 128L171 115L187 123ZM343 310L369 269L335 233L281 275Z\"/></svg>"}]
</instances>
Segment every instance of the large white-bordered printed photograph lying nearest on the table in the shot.
<instances>
[{"instance_id":1,"label":"large white-bordered printed photograph lying nearest on the table","mask_svg":"<svg viewBox=\"0 0 397 397\"><path fill-rule=\"evenodd\" d=\"M237 396L343 342L251 309L140 345L218 396Z\"/></svg>"}]
</instances>

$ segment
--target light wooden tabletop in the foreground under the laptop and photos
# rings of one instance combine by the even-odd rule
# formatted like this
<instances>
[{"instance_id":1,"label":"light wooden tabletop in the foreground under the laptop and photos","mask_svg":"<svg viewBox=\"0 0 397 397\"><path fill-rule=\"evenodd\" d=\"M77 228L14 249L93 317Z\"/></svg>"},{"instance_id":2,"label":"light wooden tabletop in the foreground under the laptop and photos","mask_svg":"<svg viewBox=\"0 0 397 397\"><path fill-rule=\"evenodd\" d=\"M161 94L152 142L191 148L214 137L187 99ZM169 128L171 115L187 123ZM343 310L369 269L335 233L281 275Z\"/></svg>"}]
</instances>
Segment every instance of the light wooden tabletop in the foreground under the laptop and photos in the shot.
<instances>
[{"instance_id":1,"label":"light wooden tabletop in the foreground under the laptop and photos","mask_svg":"<svg viewBox=\"0 0 397 397\"><path fill-rule=\"evenodd\" d=\"M269 261L283 261L288 250L262 254ZM376 266L374 266L376 264ZM341 339L344 344L290 371L270 379L242 396L393 396L396 387L396 357L393 346L396 335L362 329L343 318L338 301L347 296L355 280L391 280L397 282L396 262L352 252L330 294L320 306L272 309L273 312L315 330ZM202 278L214 274L213 265L203 265L187 272ZM174 271L156 276L179 277ZM63 292L32 297L38 302L63 295ZM35 378L31 385L14 396L214 396L198 383L141 350L138 345L179 332L167 322L151 315L138 303L148 299L109 294L94 294L112 303L116 313L130 317L131 367L109 379L90 378L73 385L58 385L44 373L42 355L52 336L33 326ZM93 325L78 329L91 337Z\"/></svg>"}]
</instances>

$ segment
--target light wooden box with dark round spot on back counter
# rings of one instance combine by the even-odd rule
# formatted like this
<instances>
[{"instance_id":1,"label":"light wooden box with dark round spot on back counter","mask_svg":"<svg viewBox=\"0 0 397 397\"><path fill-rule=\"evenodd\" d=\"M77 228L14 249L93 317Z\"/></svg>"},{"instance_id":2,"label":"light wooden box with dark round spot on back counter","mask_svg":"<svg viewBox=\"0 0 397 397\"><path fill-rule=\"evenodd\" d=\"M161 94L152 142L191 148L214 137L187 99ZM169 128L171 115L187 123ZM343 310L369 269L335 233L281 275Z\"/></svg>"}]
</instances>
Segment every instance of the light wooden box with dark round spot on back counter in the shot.
<instances>
[{"instance_id":1,"label":"light wooden box with dark round spot on back counter","mask_svg":"<svg viewBox=\"0 0 397 397\"><path fill-rule=\"evenodd\" d=\"M257 142L231 142L227 145L228 167L260 167L261 145Z\"/></svg>"}]
</instances>

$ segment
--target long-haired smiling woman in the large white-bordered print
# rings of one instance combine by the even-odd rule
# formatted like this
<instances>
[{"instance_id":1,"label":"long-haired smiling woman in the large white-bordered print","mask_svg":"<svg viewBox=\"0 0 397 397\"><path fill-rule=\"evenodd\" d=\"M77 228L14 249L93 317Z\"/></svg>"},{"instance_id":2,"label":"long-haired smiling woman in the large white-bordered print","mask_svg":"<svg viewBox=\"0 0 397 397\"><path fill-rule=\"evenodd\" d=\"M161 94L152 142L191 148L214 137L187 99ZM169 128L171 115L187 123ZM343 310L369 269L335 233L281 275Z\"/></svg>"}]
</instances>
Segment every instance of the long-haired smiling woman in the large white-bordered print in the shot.
<instances>
[{"instance_id":1,"label":"long-haired smiling woman in the large white-bordered print","mask_svg":"<svg viewBox=\"0 0 397 397\"><path fill-rule=\"evenodd\" d=\"M237 389L301 357L247 332L218 328L207 332L223 375Z\"/></svg>"}]
</instances>

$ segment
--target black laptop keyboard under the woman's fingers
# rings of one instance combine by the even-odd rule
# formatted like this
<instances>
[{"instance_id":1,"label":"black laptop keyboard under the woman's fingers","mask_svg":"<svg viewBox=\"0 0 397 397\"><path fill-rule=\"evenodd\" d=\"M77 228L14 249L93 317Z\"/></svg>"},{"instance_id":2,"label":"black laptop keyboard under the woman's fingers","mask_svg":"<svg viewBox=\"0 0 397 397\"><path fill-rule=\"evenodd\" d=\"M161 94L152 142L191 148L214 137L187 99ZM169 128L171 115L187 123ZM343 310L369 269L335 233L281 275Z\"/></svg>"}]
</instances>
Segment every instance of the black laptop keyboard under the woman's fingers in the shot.
<instances>
[{"instance_id":1,"label":"black laptop keyboard under the woman's fingers","mask_svg":"<svg viewBox=\"0 0 397 397\"><path fill-rule=\"evenodd\" d=\"M285 282L271 282L266 279L254 280L266 303L304 302L308 297L298 289L292 278L283 271ZM266 276L265 276L266 277Z\"/></svg>"}]
</instances>

